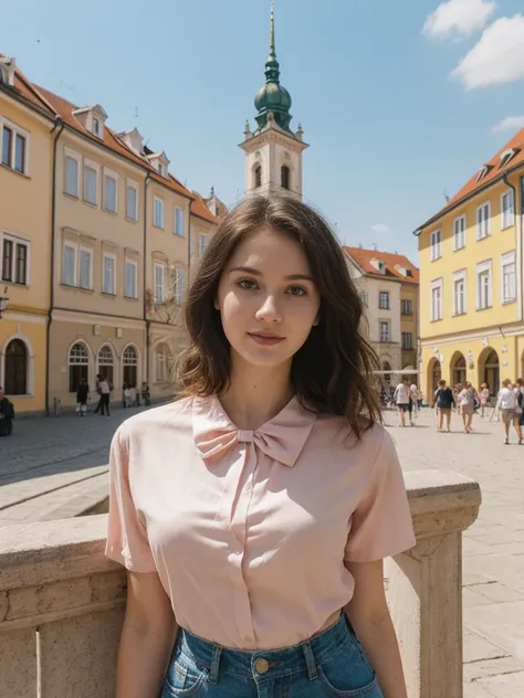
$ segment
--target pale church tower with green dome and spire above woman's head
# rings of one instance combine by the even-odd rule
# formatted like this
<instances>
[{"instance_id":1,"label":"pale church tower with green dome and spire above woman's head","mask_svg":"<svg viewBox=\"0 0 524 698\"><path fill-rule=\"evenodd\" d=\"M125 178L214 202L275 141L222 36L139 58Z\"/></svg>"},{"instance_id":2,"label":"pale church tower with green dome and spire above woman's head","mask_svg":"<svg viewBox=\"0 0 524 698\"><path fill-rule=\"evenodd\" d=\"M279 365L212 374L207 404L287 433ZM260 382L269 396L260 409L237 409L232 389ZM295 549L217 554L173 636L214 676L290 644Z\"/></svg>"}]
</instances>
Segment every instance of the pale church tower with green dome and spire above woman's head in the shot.
<instances>
[{"instance_id":1,"label":"pale church tower with green dome and spire above woman's head","mask_svg":"<svg viewBox=\"0 0 524 698\"><path fill-rule=\"evenodd\" d=\"M291 96L280 84L280 64L275 52L275 19L271 2L270 55L265 63L265 85L254 98L256 129L245 124L245 193L285 192L302 199L302 126L291 130Z\"/></svg>"}]
</instances>

